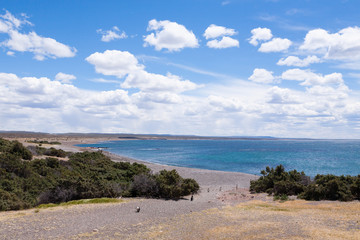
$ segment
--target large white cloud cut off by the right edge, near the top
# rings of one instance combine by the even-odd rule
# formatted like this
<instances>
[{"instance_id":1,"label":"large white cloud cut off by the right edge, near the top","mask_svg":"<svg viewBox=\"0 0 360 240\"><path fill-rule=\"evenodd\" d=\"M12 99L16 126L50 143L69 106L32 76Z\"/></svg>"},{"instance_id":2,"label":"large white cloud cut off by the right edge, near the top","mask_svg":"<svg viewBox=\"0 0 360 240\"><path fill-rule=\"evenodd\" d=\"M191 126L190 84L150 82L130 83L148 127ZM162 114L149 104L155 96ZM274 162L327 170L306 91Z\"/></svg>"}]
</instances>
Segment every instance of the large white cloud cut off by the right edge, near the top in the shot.
<instances>
[{"instance_id":1,"label":"large white cloud cut off by the right edge, near the top","mask_svg":"<svg viewBox=\"0 0 360 240\"><path fill-rule=\"evenodd\" d=\"M360 28L348 27L333 34L320 28L311 30L300 49L322 54L327 59L360 59Z\"/></svg>"}]
</instances>

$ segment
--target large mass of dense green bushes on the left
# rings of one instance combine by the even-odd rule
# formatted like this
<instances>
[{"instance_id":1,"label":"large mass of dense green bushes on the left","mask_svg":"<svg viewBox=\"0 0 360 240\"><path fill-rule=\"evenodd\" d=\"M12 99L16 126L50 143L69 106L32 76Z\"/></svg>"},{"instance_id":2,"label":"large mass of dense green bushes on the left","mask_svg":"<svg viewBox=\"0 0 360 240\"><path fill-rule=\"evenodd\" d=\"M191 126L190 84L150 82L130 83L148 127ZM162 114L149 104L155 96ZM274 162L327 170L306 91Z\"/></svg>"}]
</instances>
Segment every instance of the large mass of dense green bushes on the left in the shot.
<instances>
[{"instance_id":1,"label":"large mass of dense green bushes on the left","mask_svg":"<svg viewBox=\"0 0 360 240\"><path fill-rule=\"evenodd\" d=\"M69 160L31 160L33 154L68 156ZM17 141L0 138L0 210L101 197L176 199L198 190L195 180L183 179L175 170L152 174L143 164L113 162L101 152L29 150Z\"/></svg>"}]
</instances>

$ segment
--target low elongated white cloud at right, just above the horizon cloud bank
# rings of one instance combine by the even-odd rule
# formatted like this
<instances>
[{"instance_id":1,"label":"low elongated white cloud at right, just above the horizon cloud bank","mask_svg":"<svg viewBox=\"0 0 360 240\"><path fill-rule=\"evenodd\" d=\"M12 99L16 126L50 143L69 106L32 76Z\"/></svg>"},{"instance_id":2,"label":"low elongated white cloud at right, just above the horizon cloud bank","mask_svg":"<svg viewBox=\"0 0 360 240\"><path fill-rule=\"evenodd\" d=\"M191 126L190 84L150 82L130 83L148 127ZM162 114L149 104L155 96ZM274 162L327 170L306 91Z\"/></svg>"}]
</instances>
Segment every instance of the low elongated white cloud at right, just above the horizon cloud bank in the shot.
<instances>
[{"instance_id":1,"label":"low elongated white cloud at right, just above the horizon cloud bank","mask_svg":"<svg viewBox=\"0 0 360 240\"><path fill-rule=\"evenodd\" d=\"M301 85L304 86L327 84L339 85L344 83L341 73L331 73L323 76L322 74L317 74L310 70L302 70L298 68L289 69L283 72L281 78L284 80L302 81Z\"/></svg>"}]
</instances>

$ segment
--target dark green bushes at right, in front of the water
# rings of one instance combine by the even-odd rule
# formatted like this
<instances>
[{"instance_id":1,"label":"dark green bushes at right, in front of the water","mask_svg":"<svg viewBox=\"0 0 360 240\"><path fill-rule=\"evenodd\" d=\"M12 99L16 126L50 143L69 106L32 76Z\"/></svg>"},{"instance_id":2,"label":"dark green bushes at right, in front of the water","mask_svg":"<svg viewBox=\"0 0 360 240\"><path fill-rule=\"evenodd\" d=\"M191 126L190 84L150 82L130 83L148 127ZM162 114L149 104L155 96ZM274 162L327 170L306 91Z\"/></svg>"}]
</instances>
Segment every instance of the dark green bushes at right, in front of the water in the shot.
<instances>
[{"instance_id":1,"label":"dark green bushes at right, in front of the water","mask_svg":"<svg viewBox=\"0 0 360 240\"><path fill-rule=\"evenodd\" d=\"M258 180L250 182L250 190L276 197L297 195L306 200L360 200L360 175L335 176L318 174L312 181L304 172L286 172L282 165L266 167Z\"/></svg>"}]
</instances>

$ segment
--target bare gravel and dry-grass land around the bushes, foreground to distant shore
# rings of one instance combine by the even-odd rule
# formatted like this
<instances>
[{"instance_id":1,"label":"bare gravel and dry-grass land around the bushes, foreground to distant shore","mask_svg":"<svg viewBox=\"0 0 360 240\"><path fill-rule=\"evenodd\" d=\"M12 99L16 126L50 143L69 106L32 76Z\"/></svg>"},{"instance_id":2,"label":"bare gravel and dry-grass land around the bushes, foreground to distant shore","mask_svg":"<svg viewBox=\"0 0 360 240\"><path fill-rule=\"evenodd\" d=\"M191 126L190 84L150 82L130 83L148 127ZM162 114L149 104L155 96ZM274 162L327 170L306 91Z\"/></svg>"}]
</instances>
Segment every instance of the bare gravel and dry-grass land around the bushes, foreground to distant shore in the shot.
<instances>
[{"instance_id":1,"label":"bare gravel and dry-grass land around the bushes, foreground to distant shore","mask_svg":"<svg viewBox=\"0 0 360 240\"><path fill-rule=\"evenodd\" d=\"M4 132L0 137L24 145L34 144L31 140L59 142L51 147L72 152L98 151L75 145L100 141L203 139L29 132ZM255 175L165 166L103 153L113 161L143 163L153 172L176 169L195 179L200 193L193 201L190 196L177 201L124 198L119 203L0 212L0 239L360 239L359 201L273 201L266 194L249 192Z\"/></svg>"}]
</instances>

